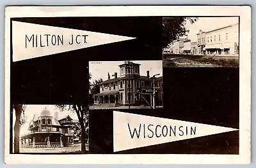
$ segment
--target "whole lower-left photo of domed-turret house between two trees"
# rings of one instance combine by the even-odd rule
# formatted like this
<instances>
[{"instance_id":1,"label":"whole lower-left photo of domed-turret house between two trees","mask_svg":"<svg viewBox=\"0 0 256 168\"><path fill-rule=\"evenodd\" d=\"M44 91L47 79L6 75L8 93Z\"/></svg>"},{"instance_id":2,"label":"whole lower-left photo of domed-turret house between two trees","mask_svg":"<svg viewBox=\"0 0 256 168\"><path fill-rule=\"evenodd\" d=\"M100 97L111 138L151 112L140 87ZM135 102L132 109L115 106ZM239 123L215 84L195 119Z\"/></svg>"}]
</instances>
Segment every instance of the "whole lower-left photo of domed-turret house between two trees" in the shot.
<instances>
[{"instance_id":1,"label":"whole lower-left photo of domed-turret house between two trees","mask_svg":"<svg viewBox=\"0 0 256 168\"><path fill-rule=\"evenodd\" d=\"M88 114L81 128L76 109L73 105L14 104L14 153L86 153Z\"/></svg>"}]
</instances>

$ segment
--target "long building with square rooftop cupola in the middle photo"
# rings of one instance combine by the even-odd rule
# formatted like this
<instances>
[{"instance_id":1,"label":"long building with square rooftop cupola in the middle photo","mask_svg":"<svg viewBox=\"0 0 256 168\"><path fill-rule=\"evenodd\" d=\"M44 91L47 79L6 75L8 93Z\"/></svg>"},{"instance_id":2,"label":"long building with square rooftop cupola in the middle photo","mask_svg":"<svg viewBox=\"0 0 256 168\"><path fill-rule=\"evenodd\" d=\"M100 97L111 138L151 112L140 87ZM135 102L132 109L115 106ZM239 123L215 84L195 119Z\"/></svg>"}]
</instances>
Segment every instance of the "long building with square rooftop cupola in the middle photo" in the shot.
<instances>
[{"instance_id":1,"label":"long building with square rooftop cupola in the middle photo","mask_svg":"<svg viewBox=\"0 0 256 168\"><path fill-rule=\"evenodd\" d=\"M114 104L115 106L129 105L129 90L131 93L131 106L163 105L163 77L150 77L140 75L140 64L130 63L119 65L120 76L115 73L114 78L102 81L100 93L93 95L94 104ZM129 73L130 69L130 73ZM129 84L129 81L130 84ZM155 93L155 94L154 94ZM153 95L154 94L154 95Z\"/></svg>"}]
</instances>

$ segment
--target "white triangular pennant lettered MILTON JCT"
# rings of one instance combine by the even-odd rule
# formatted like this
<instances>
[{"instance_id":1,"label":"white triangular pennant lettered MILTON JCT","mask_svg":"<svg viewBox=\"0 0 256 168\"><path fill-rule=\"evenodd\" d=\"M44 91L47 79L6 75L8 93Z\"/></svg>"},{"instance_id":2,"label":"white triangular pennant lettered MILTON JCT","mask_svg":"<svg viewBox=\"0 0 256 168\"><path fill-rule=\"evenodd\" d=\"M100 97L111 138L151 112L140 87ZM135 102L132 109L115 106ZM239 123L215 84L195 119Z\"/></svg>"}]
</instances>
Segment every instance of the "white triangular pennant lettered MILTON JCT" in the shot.
<instances>
[{"instance_id":1,"label":"white triangular pennant lettered MILTON JCT","mask_svg":"<svg viewBox=\"0 0 256 168\"><path fill-rule=\"evenodd\" d=\"M13 62L129 39L135 38L12 21Z\"/></svg>"}]
</instances>

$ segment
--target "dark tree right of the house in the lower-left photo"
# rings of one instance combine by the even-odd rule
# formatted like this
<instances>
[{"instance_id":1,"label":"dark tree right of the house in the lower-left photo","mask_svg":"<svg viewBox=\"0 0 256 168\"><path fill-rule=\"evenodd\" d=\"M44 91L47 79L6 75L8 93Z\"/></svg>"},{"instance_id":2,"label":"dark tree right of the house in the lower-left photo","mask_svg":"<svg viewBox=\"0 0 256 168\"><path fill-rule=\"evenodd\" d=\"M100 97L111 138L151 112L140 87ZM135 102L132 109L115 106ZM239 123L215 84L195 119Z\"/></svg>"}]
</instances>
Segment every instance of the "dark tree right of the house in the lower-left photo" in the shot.
<instances>
[{"instance_id":1,"label":"dark tree right of the house in the lower-left photo","mask_svg":"<svg viewBox=\"0 0 256 168\"><path fill-rule=\"evenodd\" d=\"M89 127L89 111L88 106L86 105L56 105L61 111L70 110L75 111L77 114L77 118L81 127L81 152L86 153L86 140L88 139L88 127ZM87 130L87 133L86 133Z\"/></svg>"}]
</instances>

